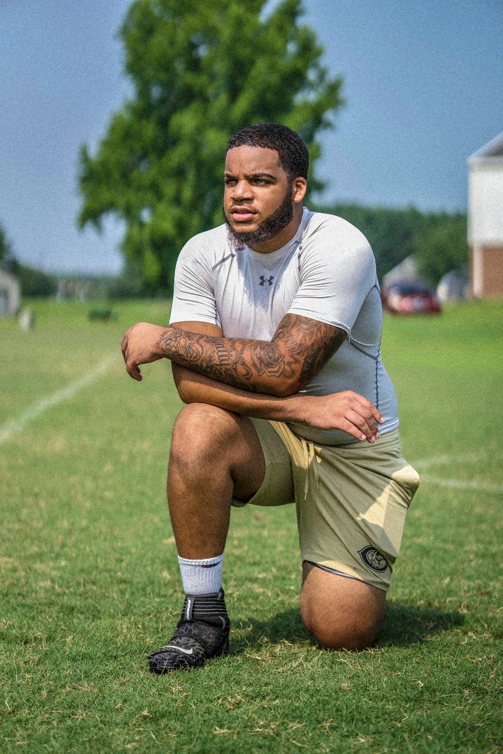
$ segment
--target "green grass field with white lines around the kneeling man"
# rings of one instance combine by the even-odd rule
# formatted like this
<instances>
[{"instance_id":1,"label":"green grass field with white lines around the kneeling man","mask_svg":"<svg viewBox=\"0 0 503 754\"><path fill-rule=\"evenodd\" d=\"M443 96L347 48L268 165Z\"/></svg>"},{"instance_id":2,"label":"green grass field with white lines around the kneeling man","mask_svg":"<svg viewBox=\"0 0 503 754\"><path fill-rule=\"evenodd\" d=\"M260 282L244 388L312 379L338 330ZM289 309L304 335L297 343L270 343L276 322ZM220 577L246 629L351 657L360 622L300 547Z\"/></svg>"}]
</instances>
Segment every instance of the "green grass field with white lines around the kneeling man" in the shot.
<instances>
[{"instance_id":1,"label":"green grass field with white lines around the kneeling man","mask_svg":"<svg viewBox=\"0 0 503 754\"><path fill-rule=\"evenodd\" d=\"M295 511L246 507L225 551L231 653L172 676L149 674L146 654L182 605L164 498L181 403L167 363L139 384L118 351L167 305L118 305L109 322L85 304L32 308L28 333L0 321L1 752L503 749L503 302L385 320L423 481L379 645L309 640Z\"/></svg>"}]
</instances>

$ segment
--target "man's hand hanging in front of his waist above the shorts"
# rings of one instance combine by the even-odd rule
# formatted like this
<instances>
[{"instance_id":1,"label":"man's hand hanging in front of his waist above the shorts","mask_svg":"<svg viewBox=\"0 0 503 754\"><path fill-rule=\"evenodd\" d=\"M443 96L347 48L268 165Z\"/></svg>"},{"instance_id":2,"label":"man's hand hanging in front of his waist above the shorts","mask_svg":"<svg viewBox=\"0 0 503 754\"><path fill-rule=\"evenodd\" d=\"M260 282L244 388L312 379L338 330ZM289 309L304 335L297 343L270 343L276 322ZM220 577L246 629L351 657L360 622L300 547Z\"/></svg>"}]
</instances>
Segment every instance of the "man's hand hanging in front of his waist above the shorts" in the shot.
<instances>
[{"instance_id":1,"label":"man's hand hanging in front of his waist above the shorts","mask_svg":"<svg viewBox=\"0 0 503 754\"><path fill-rule=\"evenodd\" d=\"M324 396L306 395L302 421L315 429L341 429L357 440L373 443L379 437L377 423L384 418L370 400L346 390Z\"/></svg>"}]
</instances>

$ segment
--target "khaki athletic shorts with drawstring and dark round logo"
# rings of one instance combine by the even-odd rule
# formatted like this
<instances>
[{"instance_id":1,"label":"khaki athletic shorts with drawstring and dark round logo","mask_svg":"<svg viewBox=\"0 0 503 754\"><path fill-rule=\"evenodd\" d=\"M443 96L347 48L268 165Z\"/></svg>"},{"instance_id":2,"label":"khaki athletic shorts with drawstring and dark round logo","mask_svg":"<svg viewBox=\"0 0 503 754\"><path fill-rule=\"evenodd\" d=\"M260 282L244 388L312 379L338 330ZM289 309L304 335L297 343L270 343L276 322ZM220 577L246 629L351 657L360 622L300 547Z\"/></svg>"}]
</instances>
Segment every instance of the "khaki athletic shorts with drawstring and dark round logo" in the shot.
<instances>
[{"instance_id":1,"label":"khaki athletic shorts with drawstring and dark round logo","mask_svg":"<svg viewBox=\"0 0 503 754\"><path fill-rule=\"evenodd\" d=\"M319 446L280 421L251 421L265 477L249 503L295 502L302 560L387 591L419 486L417 472L402 456L398 430L372 444Z\"/></svg>"}]
</instances>

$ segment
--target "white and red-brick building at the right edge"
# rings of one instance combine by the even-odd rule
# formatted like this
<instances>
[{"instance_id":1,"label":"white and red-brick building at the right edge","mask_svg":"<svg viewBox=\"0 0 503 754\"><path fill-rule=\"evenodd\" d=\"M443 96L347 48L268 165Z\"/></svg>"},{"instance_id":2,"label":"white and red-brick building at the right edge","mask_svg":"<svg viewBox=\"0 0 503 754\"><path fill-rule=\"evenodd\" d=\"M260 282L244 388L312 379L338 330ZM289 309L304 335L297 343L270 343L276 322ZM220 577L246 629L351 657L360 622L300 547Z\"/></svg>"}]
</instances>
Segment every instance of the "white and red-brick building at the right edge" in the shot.
<instances>
[{"instance_id":1,"label":"white and red-brick building at the right edge","mask_svg":"<svg viewBox=\"0 0 503 754\"><path fill-rule=\"evenodd\" d=\"M503 133L468 158L468 246L473 296L503 296Z\"/></svg>"}]
</instances>

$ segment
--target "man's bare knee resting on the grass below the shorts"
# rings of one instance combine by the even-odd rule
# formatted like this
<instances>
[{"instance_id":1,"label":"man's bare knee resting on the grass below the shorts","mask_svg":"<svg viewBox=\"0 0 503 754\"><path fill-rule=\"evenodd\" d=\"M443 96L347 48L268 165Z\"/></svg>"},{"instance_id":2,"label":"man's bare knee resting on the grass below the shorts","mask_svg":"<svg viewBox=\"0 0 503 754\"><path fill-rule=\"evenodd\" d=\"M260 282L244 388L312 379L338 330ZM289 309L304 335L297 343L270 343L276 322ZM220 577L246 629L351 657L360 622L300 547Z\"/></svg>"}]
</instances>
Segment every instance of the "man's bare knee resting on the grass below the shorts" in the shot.
<instances>
[{"instance_id":1,"label":"man's bare knee resting on the grass below the shorts","mask_svg":"<svg viewBox=\"0 0 503 754\"><path fill-rule=\"evenodd\" d=\"M302 621L324 649L373 646L386 615L385 592L304 563Z\"/></svg>"}]
</instances>

